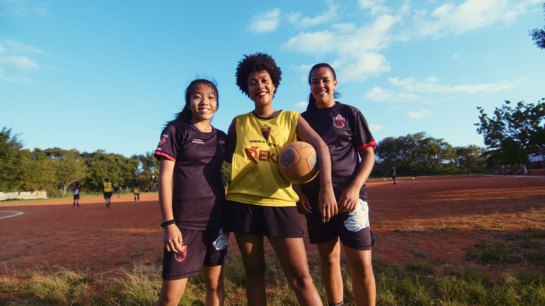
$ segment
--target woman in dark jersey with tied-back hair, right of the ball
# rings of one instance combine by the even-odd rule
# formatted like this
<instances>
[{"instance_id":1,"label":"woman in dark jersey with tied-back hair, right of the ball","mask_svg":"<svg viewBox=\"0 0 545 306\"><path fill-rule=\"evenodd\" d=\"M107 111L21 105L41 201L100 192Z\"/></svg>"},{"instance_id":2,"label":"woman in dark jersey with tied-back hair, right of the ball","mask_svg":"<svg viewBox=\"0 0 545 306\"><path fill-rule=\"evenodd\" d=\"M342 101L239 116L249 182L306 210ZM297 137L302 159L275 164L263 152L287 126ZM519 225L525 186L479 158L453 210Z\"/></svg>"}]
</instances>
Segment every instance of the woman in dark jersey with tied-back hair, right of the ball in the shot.
<instances>
[{"instance_id":1,"label":"woman in dark jersey with tied-back hair, right of the ball","mask_svg":"<svg viewBox=\"0 0 545 306\"><path fill-rule=\"evenodd\" d=\"M309 239L318 246L328 304L344 304L340 268L342 243L351 269L356 304L375 305L375 276L371 265L375 236L369 227L365 181L375 164L373 148L377 143L357 108L334 101L338 96L337 77L330 65L314 65L308 83L311 95L308 108L301 116L330 149L331 177L339 214L330 222L322 223L318 210L320 178L294 185L299 195L299 212L306 214Z\"/></svg>"}]
</instances>

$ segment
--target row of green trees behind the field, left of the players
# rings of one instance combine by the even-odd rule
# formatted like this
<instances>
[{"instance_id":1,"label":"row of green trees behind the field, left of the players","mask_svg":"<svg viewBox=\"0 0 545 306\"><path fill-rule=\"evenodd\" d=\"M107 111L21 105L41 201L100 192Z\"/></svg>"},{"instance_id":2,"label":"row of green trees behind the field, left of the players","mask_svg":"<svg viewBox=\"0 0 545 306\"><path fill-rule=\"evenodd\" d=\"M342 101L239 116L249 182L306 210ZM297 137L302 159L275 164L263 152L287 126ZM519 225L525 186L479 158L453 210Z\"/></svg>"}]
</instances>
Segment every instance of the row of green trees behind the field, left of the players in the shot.
<instances>
[{"instance_id":1,"label":"row of green trees behind the field, left of the players","mask_svg":"<svg viewBox=\"0 0 545 306\"><path fill-rule=\"evenodd\" d=\"M130 190L138 184L142 191L155 191L159 163L153 154L130 158L97 150L93 153L72 149L23 148L19 134L4 127L0 132L0 191L47 191L49 196L65 196L80 184L83 192L102 192L109 178L115 189Z\"/></svg>"}]
</instances>

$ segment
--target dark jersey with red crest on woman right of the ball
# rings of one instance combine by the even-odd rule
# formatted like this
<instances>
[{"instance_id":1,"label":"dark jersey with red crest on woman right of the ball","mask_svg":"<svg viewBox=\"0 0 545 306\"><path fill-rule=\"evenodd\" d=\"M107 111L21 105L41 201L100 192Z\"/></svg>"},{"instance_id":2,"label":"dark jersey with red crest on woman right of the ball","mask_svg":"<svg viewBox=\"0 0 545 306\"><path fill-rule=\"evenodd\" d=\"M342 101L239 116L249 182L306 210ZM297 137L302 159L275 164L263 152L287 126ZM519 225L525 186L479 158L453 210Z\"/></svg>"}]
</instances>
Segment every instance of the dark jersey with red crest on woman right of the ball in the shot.
<instances>
[{"instance_id":1,"label":"dark jersey with red crest on woman right of the ball","mask_svg":"<svg viewBox=\"0 0 545 306\"><path fill-rule=\"evenodd\" d=\"M332 108L313 106L313 115L308 111L301 117L322 137L331 155L331 179L337 196L350 185L358 173L360 158L358 151L375 148L377 142L372 138L365 117L358 108L335 102ZM302 185L303 192L311 201L318 201L320 179ZM367 200L365 184L360 191L360 198Z\"/></svg>"}]
</instances>

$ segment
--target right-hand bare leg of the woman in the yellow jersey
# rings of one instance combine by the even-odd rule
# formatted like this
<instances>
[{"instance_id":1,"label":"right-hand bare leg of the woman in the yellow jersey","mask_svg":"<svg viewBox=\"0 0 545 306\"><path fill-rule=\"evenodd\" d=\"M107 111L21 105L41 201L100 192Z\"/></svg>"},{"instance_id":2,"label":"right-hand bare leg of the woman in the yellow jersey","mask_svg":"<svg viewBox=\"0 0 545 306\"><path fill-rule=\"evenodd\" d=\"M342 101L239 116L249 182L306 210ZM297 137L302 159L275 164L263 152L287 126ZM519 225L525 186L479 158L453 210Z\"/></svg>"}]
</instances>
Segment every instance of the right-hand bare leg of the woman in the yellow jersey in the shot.
<instances>
[{"instance_id":1,"label":"right-hand bare leg of the woman in the yellow jersey","mask_svg":"<svg viewBox=\"0 0 545 306\"><path fill-rule=\"evenodd\" d=\"M267 237L280 260L289 286L295 291L299 305L322 305L322 300L308 271L303 238Z\"/></svg>"}]
</instances>

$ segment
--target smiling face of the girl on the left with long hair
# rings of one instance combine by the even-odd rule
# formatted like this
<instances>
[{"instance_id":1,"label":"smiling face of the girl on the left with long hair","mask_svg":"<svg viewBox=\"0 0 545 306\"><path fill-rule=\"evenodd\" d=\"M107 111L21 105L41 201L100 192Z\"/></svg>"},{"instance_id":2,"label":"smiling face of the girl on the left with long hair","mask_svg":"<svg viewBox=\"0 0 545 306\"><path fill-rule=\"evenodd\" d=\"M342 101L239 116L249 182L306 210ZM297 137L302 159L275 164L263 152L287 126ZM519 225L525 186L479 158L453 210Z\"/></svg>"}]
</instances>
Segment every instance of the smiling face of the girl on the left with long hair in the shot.
<instances>
[{"instance_id":1,"label":"smiling face of the girl on the left with long hair","mask_svg":"<svg viewBox=\"0 0 545 306\"><path fill-rule=\"evenodd\" d=\"M193 114L192 123L211 120L218 109L218 96L215 89L206 84L199 84L195 87L191 93L189 102L191 103L191 112Z\"/></svg>"}]
</instances>

